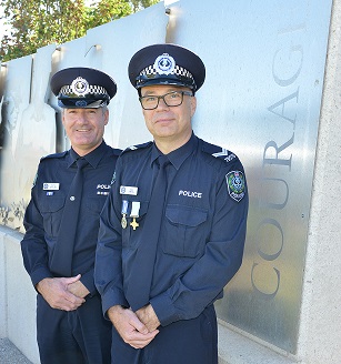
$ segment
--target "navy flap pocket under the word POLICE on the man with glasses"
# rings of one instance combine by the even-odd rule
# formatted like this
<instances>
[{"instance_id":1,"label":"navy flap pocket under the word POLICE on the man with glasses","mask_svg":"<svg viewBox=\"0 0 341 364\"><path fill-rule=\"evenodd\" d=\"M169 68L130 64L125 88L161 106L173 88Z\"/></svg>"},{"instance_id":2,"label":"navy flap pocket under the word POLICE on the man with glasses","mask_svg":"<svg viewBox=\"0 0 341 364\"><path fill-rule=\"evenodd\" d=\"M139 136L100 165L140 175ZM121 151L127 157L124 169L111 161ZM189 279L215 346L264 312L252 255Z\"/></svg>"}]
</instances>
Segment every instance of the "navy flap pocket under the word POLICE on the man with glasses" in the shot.
<instances>
[{"instance_id":1,"label":"navy flap pocket under the word POLICE on the man with glasses","mask_svg":"<svg viewBox=\"0 0 341 364\"><path fill-rule=\"evenodd\" d=\"M207 210L168 205L164 235L161 236L163 252L183 257L197 257L203 254L207 220Z\"/></svg>"}]
</instances>

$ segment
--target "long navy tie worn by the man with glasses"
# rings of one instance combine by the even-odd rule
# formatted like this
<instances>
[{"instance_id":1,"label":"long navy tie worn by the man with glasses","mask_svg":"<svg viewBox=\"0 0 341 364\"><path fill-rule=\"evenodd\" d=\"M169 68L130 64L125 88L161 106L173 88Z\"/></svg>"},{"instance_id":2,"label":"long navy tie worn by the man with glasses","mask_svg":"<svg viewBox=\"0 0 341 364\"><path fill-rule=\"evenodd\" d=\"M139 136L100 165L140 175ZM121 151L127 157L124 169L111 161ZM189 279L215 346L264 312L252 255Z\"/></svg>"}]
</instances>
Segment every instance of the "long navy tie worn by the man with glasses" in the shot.
<instances>
[{"instance_id":1,"label":"long navy tie worn by the man with glasses","mask_svg":"<svg viewBox=\"0 0 341 364\"><path fill-rule=\"evenodd\" d=\"M159 173L149 201L141 241L133 266L129 272L130 280L126 292L126 299L131 309L137 311L149 303L157 246L163 216L163 206L167 191L166 165L169 164L167 155L160 155Z\"/></svg>"}]
</instances>

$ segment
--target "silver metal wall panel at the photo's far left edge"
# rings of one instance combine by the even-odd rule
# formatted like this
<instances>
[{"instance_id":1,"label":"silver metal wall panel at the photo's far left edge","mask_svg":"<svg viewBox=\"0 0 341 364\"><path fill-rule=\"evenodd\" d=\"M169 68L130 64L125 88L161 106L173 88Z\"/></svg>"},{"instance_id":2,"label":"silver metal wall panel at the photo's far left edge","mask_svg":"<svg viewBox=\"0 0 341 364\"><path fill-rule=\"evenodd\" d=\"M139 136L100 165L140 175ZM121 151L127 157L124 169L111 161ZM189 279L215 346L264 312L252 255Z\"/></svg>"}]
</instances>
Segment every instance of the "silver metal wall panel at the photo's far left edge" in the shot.
<instances>
[{"instance_id":1,"label":"silver metal wall panel at the photo's far left edge","mask_svg":"<svg viewBox=\"0 0 341 364\"><path fill-rule=\"evenodd\" d=\"M13 229L21 226L27 205L20 190L22 169L19 163L17 168L16 155L21 149L18 141L24 110L30 104L31 67L32 57L28 55L11 61L2 69L0 223ZM34 176L34 170L31 174Z\"/></svg>"}]
</instances>

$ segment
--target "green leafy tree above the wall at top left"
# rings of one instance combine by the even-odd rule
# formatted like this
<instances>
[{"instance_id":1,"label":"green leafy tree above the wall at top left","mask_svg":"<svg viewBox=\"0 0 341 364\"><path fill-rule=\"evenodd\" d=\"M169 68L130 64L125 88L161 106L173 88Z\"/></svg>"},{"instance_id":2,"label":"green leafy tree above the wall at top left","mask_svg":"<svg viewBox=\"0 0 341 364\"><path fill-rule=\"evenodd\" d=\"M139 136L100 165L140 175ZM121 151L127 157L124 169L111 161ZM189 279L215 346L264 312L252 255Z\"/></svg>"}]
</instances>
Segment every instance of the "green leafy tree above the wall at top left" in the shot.
<instances>
[{"instance_id":1,"label":"green leafy tree above the wall at top left","mask_svg":"<svg viewBox=\"0 0 341 364\"><path fill-rule=\"evenodd\" d=\"M159 0L0 0L9 31L1 40L0 59L34 53L51 43L82 37L88 29L129 16Z\"/></svg>"}]
</instances>

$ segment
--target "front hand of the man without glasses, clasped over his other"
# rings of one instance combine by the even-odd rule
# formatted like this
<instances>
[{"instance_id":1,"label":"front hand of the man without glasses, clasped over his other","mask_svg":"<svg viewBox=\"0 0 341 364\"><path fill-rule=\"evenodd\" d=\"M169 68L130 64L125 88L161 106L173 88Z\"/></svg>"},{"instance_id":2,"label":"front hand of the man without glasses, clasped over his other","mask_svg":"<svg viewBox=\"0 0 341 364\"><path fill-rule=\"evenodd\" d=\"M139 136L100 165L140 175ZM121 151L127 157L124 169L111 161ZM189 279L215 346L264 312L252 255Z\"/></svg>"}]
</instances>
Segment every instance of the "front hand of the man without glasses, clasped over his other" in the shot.
<instances>
[{"instance_id":1,"label":"front hand of the man without glasses, clasped over his other","mask_svg":"<svg viewBox=\"0 0 341 364\"><path fill-rule=\"evenodd\" d=\"M43 279L36 287L52 309L73 311L86 302L68 291L68 285L79 279L80 274L72 277Z\"/></svg>"}]
</instances>

